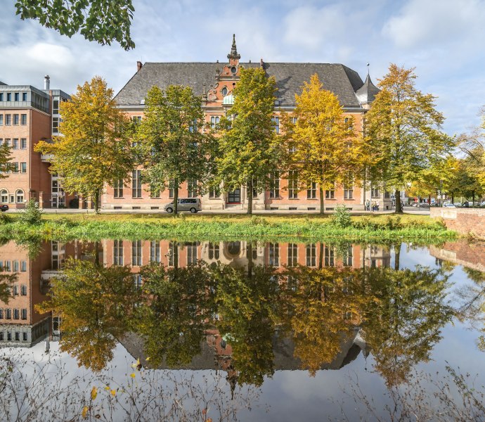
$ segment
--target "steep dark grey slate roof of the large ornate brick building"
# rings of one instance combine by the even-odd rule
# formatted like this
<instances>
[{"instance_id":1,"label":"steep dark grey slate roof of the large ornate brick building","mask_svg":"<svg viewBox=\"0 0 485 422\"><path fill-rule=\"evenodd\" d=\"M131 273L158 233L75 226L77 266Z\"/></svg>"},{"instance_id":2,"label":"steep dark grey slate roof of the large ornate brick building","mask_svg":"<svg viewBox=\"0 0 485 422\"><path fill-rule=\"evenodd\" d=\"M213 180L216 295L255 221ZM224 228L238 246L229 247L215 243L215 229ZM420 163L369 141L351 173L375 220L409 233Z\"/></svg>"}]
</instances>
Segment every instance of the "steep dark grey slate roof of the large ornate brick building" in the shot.
<instances>
[{"instance_id":1,"label":"steep dark grey slate roof of the large ornate brick building","mask_svg":"<svg viewBox=\"0 0 485 422\"><path fill-rule=\"evenodd\" d=\"M216 69L226 63L145 63L119 91L115 100L119 106L139 106L148 89L157 85L165 89L170 84L188 85L196 95L202 95L216 83ZM259 63L240 63L245 68L257 68ZM276 78L276 96L280 106L293 106L295 94L302 91L304 81L317 73L324 89L339 98L344 107L361 107L355 91L363 86L358 73L340 64L329 63L264 63L269 76Z\"/></svg>"}]
</instances>

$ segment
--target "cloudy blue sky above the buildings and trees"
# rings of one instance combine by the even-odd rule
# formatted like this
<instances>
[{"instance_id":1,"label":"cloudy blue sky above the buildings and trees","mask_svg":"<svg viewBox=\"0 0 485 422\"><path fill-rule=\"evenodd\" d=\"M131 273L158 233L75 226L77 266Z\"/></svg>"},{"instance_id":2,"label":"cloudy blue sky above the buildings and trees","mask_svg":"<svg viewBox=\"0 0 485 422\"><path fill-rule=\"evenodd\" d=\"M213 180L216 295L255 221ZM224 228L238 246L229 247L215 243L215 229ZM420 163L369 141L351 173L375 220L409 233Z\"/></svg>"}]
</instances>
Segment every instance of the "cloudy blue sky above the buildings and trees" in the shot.
<instances>
[{"instance_id":1,"label":"cloudy blue sky above the buildings and trees","mask_svg":"<svg viewBox=\"0 0 485 422\"><path fill-rule=\"evenodd\" d=\"M0 81L75 91L94 75L115 93L136 61L224 62L235 33L242 61L342 63L377 84L390 63L415 68L448 134L480 124L485 105L485 0L133 0L132 51L60 36L0 0Z\"/></svg>"}]
</instances>

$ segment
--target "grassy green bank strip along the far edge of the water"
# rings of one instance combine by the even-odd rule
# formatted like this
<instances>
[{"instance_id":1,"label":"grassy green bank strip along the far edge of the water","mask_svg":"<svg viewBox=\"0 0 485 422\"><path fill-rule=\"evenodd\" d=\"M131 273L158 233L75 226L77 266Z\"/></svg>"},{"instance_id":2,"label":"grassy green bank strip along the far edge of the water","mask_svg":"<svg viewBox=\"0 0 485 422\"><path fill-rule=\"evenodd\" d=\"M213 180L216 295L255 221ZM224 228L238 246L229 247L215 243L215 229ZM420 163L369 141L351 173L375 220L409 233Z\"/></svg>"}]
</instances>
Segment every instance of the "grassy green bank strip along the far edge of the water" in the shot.
<instances>
[{"instance_id":1,"label":"grassy green bank strip along the far edge of the water","mask_svg":"<svg viewBox=\"0 0 485 422\"><path fill-rule=\"evenodd\" d=\"M25 224L9 215L0 222L0 238L56 240L162 239L241 240L319 239L392 241L455 238L454 231L425 215L353 216L340 227L330 215L53 215L44 214L40 224Z\"/></svg>"}]
</instances>

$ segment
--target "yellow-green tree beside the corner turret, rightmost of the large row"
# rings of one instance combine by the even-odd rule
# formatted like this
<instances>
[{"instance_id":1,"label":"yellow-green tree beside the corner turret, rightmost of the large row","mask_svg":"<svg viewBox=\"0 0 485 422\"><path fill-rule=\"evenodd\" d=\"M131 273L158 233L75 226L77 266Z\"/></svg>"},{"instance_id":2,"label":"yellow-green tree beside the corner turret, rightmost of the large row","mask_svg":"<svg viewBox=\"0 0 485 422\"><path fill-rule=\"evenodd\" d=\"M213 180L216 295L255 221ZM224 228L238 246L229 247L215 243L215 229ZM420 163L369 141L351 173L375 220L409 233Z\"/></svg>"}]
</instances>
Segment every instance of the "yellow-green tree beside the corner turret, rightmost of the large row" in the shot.
<instances>
[{"instance_id":1,"label":"yellow-green tree beside the corner turret, rightmost of the large row","mask_svg":"<svg viewBox=\"0 0 485 422\"><path fill-rule=\"evenodd\" d=\"M390 65L379 82L366 115L366 138L375 162L370 179L395 189L396 212L402 212L401 190L437 162L446 160L454 140L441 132L444 117L434 96L415 87L414 69Z\"/></svg>"}]
</instances>

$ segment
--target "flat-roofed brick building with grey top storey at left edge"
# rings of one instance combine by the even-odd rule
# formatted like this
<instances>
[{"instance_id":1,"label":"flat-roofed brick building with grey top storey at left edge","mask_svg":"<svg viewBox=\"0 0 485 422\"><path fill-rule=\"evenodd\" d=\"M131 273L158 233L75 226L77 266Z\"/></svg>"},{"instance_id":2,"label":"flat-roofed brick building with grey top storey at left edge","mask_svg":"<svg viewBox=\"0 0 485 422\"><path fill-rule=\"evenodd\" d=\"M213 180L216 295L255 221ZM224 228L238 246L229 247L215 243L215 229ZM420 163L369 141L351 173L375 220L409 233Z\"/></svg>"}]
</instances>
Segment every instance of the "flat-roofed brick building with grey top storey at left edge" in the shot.
<instances>
[{"instance_id":1,"label":"flat-roofed brick building with grey top storey at left edge","mask_svg":"<svg viewBox=\"0 0 485 422\"><path fill-rule=\"evenodd\" d=\"M0 203L22 208L34 199L41 207L68 205L71 197L66 198L60 178L48 172L48 156L35 152L34 146L59 135L59 104L69 98L50 89L48 76L44 89L0 82L0 144L11 147L13 163L13 170L0 179Z\"/></svg>"}]
</instances>

